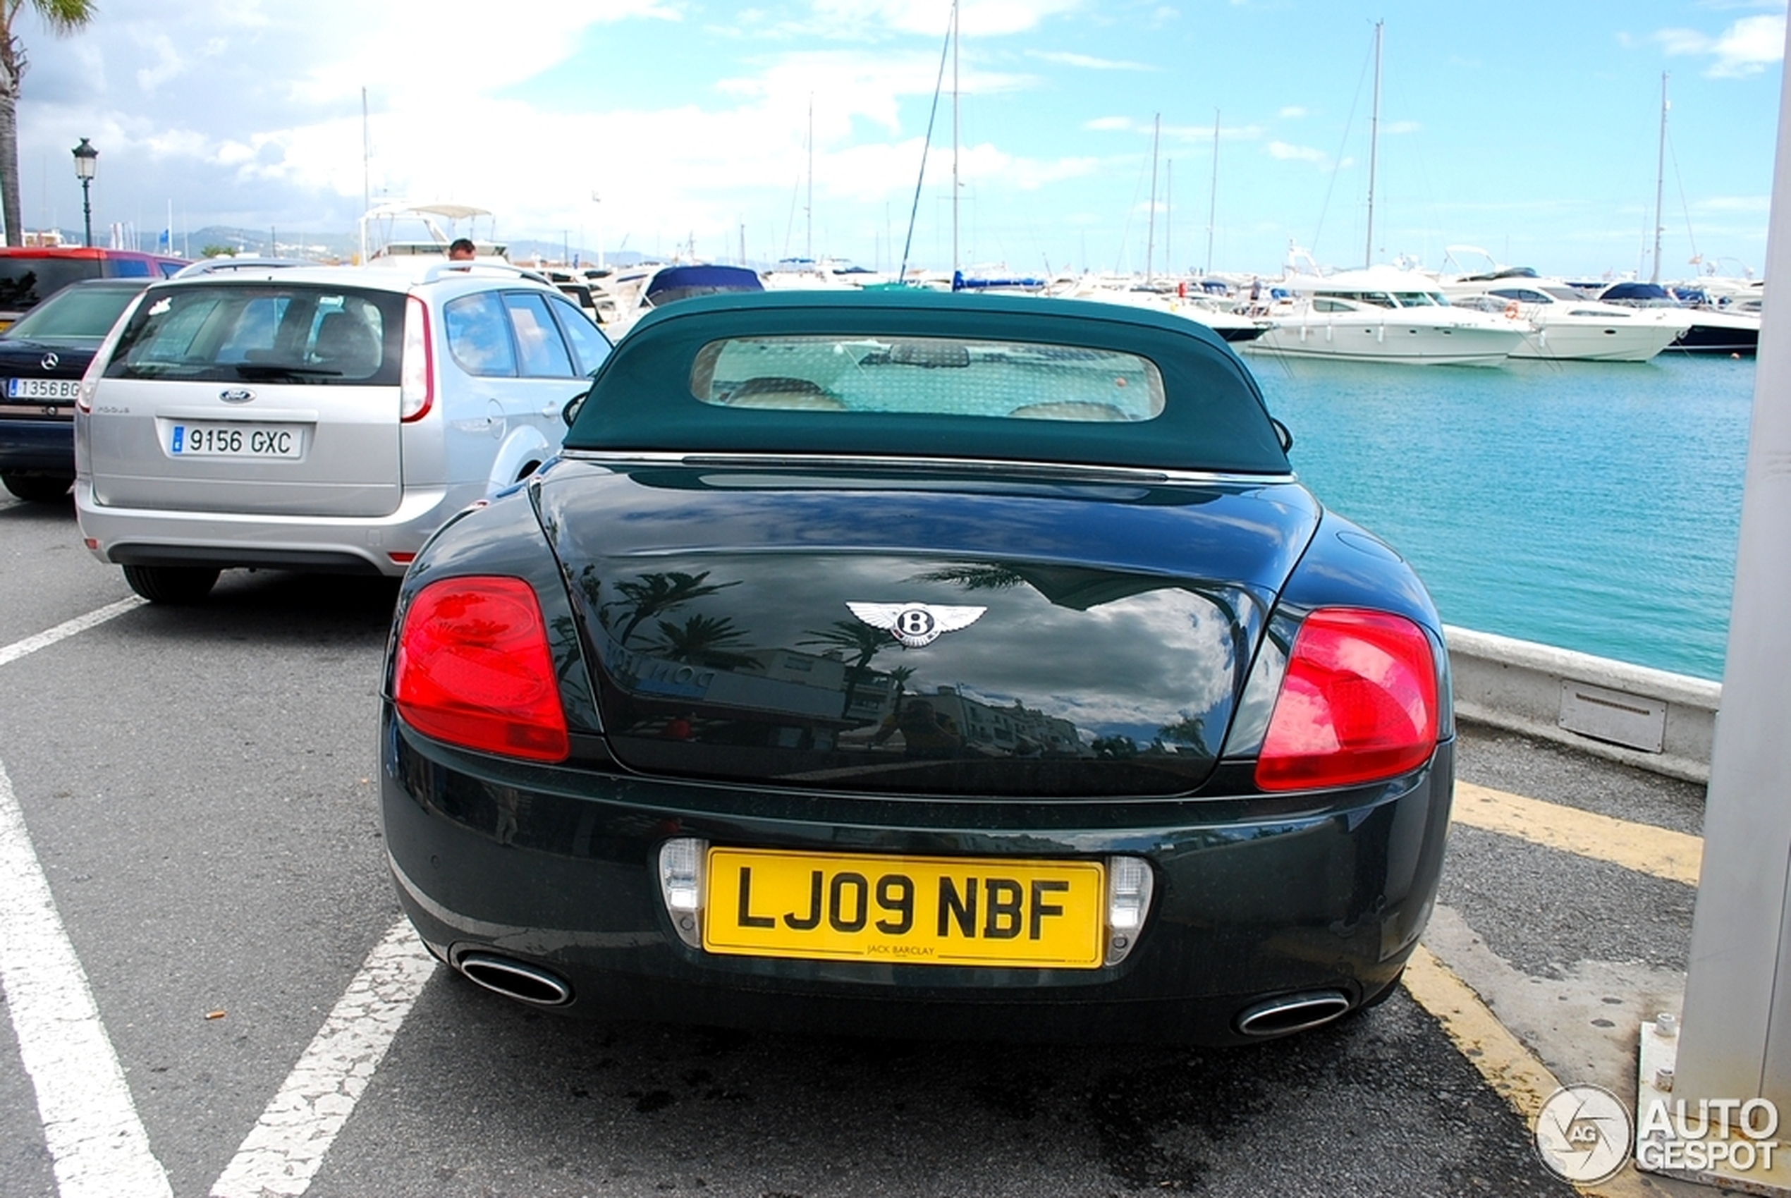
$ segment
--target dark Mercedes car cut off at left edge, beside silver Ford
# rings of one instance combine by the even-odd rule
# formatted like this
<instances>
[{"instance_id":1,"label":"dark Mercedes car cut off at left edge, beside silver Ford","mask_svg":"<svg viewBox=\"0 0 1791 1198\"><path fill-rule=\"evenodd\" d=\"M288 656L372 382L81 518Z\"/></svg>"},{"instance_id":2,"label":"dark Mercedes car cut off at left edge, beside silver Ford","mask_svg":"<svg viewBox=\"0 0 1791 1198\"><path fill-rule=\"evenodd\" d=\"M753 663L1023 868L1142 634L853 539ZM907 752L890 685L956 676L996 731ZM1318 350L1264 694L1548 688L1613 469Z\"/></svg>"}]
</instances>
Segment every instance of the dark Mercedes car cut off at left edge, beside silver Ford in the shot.
<instances>
[{"instance_id":1,"label":"dark Mercedes car cut off at left edge, beside silver Ford","mask_svg":"<svg viewBox=\"0 0 1791 1198\"><path fill-rule=\"evenodd\" d=\"M70 283L0 333L0 483L18 498L54 503L68 494L81 376L150 283Z\"/></svg>"}]
</instances>

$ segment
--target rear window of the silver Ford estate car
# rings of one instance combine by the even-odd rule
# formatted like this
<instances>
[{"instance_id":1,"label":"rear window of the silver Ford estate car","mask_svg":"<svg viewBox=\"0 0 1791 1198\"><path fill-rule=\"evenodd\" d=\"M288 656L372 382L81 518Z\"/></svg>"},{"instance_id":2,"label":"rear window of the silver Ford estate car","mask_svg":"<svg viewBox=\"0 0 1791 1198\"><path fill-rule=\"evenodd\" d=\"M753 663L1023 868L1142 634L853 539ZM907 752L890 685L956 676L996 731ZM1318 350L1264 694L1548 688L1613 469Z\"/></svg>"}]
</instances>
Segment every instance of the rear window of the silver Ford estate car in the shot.
<instances>
[{"instance_id":1,"label":"rear window of the silver Ford estate car","mask_svg":"<svg viewBox=\"0 0 1791 1198\"><path fill-rule=\"evenodd\" d=\"M304 285L170 287L138 306L106 378L394 385L403 303Z\"/></svg>"}]
</instances>

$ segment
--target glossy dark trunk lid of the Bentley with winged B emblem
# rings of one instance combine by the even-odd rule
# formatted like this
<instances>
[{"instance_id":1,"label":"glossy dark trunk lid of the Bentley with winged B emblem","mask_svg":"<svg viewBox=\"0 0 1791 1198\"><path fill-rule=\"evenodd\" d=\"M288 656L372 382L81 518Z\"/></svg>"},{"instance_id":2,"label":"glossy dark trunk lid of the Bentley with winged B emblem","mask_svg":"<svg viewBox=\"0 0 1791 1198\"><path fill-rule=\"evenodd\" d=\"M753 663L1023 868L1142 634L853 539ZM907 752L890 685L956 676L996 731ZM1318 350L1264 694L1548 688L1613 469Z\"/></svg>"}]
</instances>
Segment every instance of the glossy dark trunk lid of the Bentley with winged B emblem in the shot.
<instances>
[{"instance_id":1,"label":"glossy dark trunk lid of the Bentley with winged B emblem","mask_svg":"<svg viewBox=\"0 0 1791 1198\"><path fill-rule=\"evenodd\" d=\"M577 462L539 501L627 766L971 797L1196 788L1318 518L1291 482Z\"/></svg>"}]
</instances>

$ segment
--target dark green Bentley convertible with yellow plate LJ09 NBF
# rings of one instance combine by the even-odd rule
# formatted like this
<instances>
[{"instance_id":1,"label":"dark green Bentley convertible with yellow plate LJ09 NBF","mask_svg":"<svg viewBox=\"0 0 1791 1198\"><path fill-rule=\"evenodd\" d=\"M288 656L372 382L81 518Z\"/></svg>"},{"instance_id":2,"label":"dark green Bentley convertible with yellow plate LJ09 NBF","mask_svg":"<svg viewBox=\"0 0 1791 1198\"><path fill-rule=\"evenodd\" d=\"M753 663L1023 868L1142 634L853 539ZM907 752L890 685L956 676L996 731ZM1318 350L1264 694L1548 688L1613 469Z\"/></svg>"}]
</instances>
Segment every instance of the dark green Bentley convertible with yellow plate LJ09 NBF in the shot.
<instances>
[{"instance_id":1,"label":"dark green Bentley convertible with yellow plate LJ09 NBF","mask_svg":"<svg viewBox=\"0 0 1791 1198\"><path fill-rule=\"evenodd\" d=\"M399 901L523 1003L1241 1042L1397 983L1454 775L1436 612L1238 356L1073 301L648 315L405 577Z\"/></svg>"}]
</instances>

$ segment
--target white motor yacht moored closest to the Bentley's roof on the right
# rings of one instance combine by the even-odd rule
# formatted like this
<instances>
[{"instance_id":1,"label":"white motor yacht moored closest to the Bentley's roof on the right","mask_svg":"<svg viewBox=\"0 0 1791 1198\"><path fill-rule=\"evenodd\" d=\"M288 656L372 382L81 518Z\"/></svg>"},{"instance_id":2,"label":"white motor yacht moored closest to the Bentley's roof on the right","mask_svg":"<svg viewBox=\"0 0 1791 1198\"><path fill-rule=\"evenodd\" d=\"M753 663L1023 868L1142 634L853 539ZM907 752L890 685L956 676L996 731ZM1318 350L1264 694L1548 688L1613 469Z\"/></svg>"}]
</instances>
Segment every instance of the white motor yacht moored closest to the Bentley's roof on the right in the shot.
<instances>
[{"instance_id":1,"label":"white motor yacht moored closest to the Bentley's roof on the right","mask_svg":"<svg viewBox=\"0 0 1791 1198\"><path fill-rule=\"evenodd\" d=\"M1284 358L1429 365L1501 365L1533 326L1503 313L1454 308L1436 279L1397 267L1288 276L1268 304L1272 328L1243 346Z\"/></svg>"}]
</instances>

